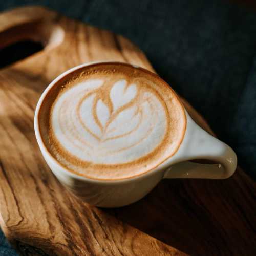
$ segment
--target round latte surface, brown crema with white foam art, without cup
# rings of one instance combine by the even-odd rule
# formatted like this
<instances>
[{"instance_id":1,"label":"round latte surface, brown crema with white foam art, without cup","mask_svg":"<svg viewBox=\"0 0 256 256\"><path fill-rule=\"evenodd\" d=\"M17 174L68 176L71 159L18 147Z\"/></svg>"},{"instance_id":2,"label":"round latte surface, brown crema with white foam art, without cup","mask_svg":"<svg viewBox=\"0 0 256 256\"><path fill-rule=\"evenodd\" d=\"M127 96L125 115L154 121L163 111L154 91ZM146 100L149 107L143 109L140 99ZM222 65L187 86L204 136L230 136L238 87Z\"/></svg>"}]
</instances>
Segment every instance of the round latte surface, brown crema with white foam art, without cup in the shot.
<instances>
[{"instance_id":1,"label":"round latte surface, brown crema with white foam art, without cup","mask_svg":"<svg viewBox=\"0 0 256 256\"><path fill-rule=\"evenodd\" d=\"M160 77L117 62L82 67L58 80L40 112L51 155L91 179L150 171L178 150L186 126L183 106Z\"/></svg>"}]
</instances>

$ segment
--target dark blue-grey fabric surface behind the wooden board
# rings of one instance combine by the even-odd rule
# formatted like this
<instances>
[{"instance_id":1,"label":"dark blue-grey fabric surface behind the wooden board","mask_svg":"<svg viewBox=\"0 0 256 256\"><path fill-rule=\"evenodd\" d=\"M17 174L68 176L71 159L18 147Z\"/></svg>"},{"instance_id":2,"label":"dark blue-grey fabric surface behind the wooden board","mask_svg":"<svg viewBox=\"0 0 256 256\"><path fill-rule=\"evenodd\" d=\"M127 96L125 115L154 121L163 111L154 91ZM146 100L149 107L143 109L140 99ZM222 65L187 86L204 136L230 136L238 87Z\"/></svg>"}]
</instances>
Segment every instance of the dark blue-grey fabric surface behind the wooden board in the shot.
<instances>
[{"instance_id":1,"label":"dark blue-grey fabric surface behind the wooden board","mask_svg":"<svg viewBox=\"0 0 256 256\"><path fill-rule=\"evenodd\" d=\"M256 177L256 11L220 0L9 0L0 10L29 4L130 38Z\"/></svg>"}]
</instances>

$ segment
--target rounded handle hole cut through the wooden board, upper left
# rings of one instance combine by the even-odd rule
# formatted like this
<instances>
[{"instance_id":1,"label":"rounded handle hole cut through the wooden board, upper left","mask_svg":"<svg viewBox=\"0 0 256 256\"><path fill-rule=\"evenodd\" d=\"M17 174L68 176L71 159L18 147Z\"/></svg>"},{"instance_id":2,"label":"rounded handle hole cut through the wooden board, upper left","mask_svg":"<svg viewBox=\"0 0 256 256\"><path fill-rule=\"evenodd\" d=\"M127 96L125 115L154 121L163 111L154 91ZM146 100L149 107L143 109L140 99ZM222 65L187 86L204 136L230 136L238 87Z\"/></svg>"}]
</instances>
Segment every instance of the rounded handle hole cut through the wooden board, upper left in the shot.
<instances>
[{"instance_id":1,"label":"rounded handle hole cut through the wooden board, upper left","mask_svg":"<svg viewBox=\"0 0 256 256\"><path fill-rule=\"evenodd\" d=\"M37 52L57 47L63 38L64 32L59 25L40 20L2 31L0 32L0 68Z\"/></svg>"}]
</instances>

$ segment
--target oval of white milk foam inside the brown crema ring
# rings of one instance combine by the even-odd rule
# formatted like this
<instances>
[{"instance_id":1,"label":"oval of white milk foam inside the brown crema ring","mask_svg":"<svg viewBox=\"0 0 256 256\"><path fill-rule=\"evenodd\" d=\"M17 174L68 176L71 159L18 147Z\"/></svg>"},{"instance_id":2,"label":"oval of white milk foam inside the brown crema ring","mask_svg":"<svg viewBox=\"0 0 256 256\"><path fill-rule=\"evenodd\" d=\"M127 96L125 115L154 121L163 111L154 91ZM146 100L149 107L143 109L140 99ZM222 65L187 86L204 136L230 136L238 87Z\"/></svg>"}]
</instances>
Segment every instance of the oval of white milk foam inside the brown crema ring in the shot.
<instances>
[{"instance_id":1,"label":"oval of white milk foam inside the brown crema ring","mask_svg":"<svg viewBox=\"0 0 256 256\"><path fill-rule=\"evenodd\" d=\"M51 140L61 152L90 165L139 160L154 151L167 132L166 108L159 97L136 80L82 81L55 100Z\"/></svg>"}]
</instances>

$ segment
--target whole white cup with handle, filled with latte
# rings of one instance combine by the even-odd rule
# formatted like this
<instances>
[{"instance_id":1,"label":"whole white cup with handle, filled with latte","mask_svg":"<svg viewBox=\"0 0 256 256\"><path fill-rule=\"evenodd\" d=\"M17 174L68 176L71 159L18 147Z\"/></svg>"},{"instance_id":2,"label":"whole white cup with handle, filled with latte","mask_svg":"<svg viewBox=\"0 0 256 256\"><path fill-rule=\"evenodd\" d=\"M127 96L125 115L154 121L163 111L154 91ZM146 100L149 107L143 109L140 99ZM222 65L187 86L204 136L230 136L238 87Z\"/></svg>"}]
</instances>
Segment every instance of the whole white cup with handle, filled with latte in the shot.
<instances>
[{"instance_id":1,"label":"whole white cup with handle, filled with latte","mask_svg":"<svg viewBox=\"0 0 256 256\"><path fill-rule=\"evenodd\" d=\"M42 156L83 201L120 207L162 179L225 179L237 156L189 116L159 76L121 62L91 62L54 79L36 106ZM214 164L189 160L206 159Z\"/></svg>"}]
</instances>

